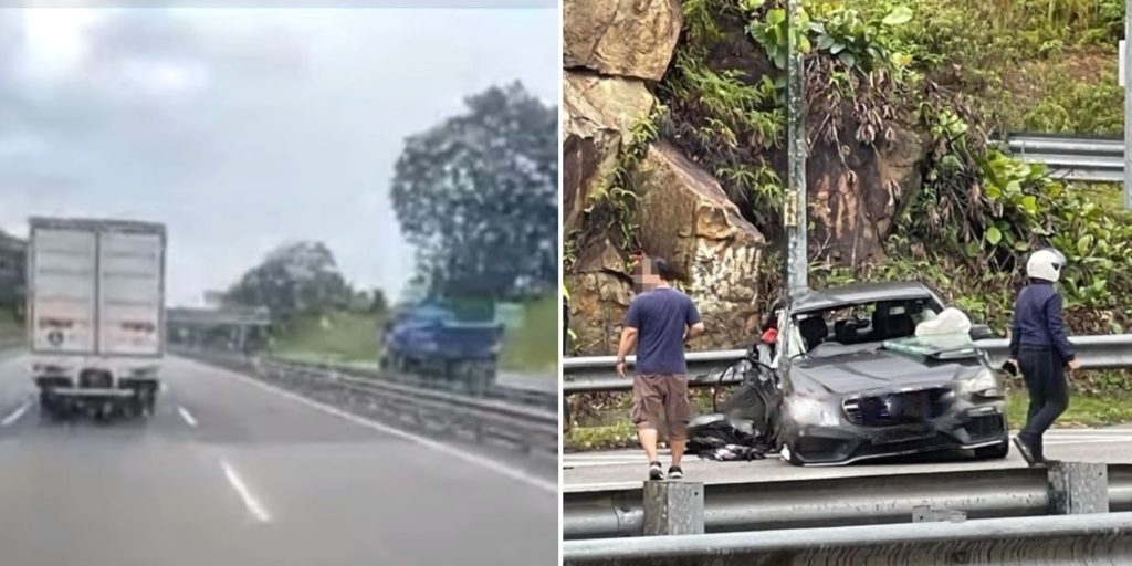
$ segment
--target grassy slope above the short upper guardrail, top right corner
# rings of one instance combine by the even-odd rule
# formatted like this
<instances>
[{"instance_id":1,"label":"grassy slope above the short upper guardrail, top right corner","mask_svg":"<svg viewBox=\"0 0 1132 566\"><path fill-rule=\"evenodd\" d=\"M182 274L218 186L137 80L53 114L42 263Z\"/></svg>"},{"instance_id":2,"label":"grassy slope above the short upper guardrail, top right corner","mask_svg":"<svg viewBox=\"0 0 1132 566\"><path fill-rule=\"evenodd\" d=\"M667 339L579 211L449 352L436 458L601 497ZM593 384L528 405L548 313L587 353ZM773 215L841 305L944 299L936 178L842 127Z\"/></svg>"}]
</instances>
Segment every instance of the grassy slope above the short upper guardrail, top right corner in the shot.
<instances>
[{"instance_id":1,"label":"grassy slope above the short upper guardrail, top right corner","mask_svg":"<svg viewBox=\"0 0 1132 566\"><path fill-rule=\"evenodd\" d=\"M886 6L889 0L854 5ZM1000 129L1115 134L1118 0L909 0L899 38L943 86L978 95Z\"/></svg>"}]
</instances>

